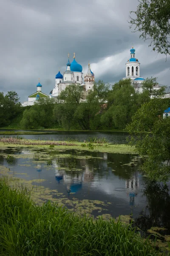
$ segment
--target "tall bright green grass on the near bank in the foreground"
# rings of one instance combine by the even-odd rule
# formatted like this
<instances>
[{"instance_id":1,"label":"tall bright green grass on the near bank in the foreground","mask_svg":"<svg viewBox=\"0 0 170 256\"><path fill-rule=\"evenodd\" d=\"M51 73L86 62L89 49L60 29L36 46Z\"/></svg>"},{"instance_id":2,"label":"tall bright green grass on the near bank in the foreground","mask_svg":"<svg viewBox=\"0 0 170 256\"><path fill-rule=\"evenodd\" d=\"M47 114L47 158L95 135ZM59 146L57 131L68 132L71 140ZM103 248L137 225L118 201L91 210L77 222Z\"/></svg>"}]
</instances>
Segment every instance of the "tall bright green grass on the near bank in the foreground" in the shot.
<instances>
[{"instance_id":1,"label":"tall bright green grass on the near bank in the foreground","mask_svg":"<svg viewBox=\"0 0 170 256\"><path fill-rule=\"evenodd\" d=\"M79 218L50 202L39 207L29 195L0 180L1 256L157 255L130 225Z\"/></svg>"}]
</instances>

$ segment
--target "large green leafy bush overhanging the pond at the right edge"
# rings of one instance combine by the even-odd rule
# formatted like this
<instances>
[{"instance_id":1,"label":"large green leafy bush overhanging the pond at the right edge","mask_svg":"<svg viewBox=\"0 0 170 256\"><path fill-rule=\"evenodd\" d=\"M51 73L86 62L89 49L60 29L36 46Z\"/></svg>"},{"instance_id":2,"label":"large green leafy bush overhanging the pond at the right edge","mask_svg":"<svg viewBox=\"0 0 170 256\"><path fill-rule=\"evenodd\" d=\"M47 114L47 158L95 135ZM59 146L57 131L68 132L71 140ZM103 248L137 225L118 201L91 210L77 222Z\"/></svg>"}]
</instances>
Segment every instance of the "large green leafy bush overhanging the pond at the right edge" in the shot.
<instances>
[{"instance_id":1,"label":"large green leafy bush overhanging the pond at the right edge","mask_svg":"<svg viewBox=\"0 0 170 256\"><path fill-rule=\"evenodd\" d=\"M144 158L142 170L151 180L170 178L170 118L163 118L169 99L151 99L127 125L130 144Z\"/></svg>"}]
</instances>

